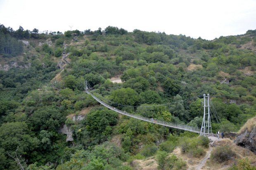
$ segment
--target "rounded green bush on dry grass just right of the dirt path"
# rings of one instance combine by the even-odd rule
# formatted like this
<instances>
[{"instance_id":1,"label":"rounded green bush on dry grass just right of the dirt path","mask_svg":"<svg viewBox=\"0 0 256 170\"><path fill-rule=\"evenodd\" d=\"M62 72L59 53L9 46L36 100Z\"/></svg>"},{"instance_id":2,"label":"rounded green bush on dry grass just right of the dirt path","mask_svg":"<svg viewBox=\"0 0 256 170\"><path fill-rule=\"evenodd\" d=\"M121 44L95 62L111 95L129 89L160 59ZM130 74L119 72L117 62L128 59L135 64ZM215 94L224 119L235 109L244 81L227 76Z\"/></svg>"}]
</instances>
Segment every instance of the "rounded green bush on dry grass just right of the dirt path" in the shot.
<instances>
[{"instance_id":1,"label":"rounded green bush on dry grass just right of the dirt path","mask_svg":"<svg viewBox=\"0 0 256 170\"><path fill-rule=\"evenodd\" d=\"M213 159L214 161L218 161L219 163L223 163L235 157L235 152L232 151L231 147L227 145L216 147L211 152L211 159Z\"/></svg>"}]
</instances>

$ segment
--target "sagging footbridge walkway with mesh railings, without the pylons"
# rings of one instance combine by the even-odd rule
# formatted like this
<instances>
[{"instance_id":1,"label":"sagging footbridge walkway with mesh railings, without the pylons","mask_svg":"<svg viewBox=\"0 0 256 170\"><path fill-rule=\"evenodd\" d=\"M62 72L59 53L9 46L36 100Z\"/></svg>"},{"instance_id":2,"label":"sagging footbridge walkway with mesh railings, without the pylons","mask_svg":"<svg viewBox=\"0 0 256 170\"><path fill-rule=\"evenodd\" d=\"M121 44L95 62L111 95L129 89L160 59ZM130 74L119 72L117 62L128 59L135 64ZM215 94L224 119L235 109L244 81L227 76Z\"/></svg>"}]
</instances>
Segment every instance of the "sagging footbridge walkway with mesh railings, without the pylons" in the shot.
<instances>
[{"instance_id":1,"label":"sagging footbridge walkway with mesh railings, without the pylons","mask_svg":"<svg viewBox=\"0 0 256 170\"><path fill-rule=\"evenodd\" d=\"M144 120L144 121L147 121L147 122L152 122L152 123L155 123L155 124L160 124L160 125L163 125L163 126L168 126L168 127L172 127L172 128L176 128L176 129L192 131L192 132L195 132L195 133L200 133L200 131L201 131L201 128L194 127L194 126L187 126L185 124L176 124L176 123L166 122L166 121L162 121L162 120L156 120L155 121L154 119L152 121L152 118L143 117L141 115L135 115L135 114L132 114L132 113L127 113L123 110L119 110L117 108L113 108L112 106L109 106L107 103L104 103L103 101L101 101L100 99L98 99L96 96L94 96L93 94L91 94L88 91L86 91L86 93L90 94L96 101L101 103L103 106L105 106L105 107L107 107L111 110L114 110L115 112L121 113L123 115L127 115L129 117L133 117L133 118L136 118L136 119L140 119L140 120Z\"/></svg>"}]
</instances>

